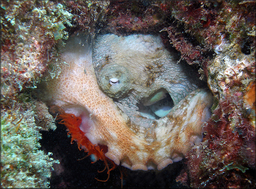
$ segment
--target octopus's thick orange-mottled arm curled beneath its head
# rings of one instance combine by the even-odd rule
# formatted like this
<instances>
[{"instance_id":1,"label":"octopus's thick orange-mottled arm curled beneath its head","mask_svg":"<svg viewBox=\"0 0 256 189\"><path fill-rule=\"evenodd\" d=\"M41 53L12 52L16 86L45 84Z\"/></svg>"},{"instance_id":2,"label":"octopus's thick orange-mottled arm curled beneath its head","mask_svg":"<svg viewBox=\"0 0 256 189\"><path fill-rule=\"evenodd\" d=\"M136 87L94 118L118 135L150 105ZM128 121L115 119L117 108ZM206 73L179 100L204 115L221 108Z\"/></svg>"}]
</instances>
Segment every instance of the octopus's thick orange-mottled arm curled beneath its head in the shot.
<instances>
[{"instance_id":1,"label":"octopus's thick orange-mottled arm curled beneath its head","mask_svg":"<svg viewBox=\"0 0 256 189\"><path fill-rule=\"evenodd\" d=\"M45 100L82 118L80 125L93 144L108 146L115 164L132 170L163 169L179 161L191 145L202 140L201 124L210 116L211 93L196 89L170 113L148 128L137 125L98 86L92 50L71 39L60 59L58 78L48 81Z\"/></svg>"}]
</instances>

